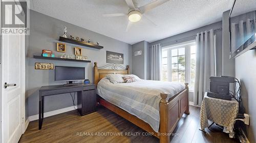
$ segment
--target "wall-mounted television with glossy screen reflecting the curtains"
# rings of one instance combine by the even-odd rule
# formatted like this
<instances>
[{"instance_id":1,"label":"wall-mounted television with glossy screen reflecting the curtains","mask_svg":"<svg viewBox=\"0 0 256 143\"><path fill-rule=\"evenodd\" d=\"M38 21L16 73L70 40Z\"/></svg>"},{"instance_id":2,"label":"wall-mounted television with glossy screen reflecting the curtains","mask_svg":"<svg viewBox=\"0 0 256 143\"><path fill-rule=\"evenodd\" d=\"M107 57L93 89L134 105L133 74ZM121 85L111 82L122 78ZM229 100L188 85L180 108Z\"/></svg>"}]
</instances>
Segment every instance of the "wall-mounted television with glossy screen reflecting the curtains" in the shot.
<instances>
[{"instance_id":1,"label":"wall-mounted television with glossy screen reflecting the curtains","mask_svg":"<svg viewBox=\"0 0 256 143\"><path fill-rule=\"evenodd\" d=\"M256 1L234 0L229 14L230 59L256 48Z\"/></svg>"}]
</instances>

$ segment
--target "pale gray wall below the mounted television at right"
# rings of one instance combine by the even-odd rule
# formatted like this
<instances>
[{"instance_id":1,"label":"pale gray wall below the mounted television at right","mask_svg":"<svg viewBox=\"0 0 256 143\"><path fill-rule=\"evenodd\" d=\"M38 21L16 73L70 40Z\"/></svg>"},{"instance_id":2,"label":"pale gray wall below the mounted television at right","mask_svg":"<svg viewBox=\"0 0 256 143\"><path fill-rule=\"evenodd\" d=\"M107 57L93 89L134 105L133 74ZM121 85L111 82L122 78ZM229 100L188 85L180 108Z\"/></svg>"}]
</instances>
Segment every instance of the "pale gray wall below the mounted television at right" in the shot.
<instances>
[{"instance_id":1,"label":"pale gray wall below the mounted television at right","mask_svg":"<svg viewBox=\"0 0 256 143\"><path fill-rule=\"evenodd\" d=\"M240 112L250 115L250 125L246 126L250 142L256 142L256 51L249 50L236 58L236 77L242 86L242 106Z\"/></svg>"}]
</instances>

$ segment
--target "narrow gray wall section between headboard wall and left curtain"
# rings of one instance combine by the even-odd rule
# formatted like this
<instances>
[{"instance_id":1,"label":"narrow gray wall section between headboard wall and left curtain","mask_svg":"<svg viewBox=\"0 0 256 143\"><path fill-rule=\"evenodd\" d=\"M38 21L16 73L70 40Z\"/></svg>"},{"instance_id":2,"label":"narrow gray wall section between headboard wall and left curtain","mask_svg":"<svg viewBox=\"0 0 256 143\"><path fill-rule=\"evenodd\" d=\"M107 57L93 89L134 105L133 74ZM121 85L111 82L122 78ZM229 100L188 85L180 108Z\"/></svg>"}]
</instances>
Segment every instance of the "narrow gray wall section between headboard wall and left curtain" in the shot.
<instances>
[{"instance_id":1,"label":"narrow gray wall section between headboard wall and left curtain","mask_svg":"<svg viewBox=\"0 0 256 143\"><path fill-rule=\"evenodd\" d=\"M133 74L142 79L150 79L150 51L147 41L141 41L132 45ZM134 55L135 51L141 50L141 55Z\"/></svg>"}]
</instances>

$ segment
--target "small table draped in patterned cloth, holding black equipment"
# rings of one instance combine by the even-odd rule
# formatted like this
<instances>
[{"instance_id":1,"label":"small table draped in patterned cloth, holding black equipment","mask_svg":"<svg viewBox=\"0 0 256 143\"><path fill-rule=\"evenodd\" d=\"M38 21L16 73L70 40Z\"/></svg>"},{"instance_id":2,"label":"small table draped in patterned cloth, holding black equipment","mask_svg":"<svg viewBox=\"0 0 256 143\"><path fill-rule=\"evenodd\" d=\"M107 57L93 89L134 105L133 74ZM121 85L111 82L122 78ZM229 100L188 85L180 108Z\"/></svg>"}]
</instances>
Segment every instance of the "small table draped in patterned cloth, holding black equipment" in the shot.
<instances>
[{"instance_id":1,"label":"small table draped in patterned cloth, holding black equipment","mask_svg":"<svg viewBox=\"0 0 256 143\"><path fill-rule=\"evenodd\" d=\"M223 126L223 132L229 133L229 137L233 138L233 124L238 116L238 110L239 103L237 100L233 98L231 101L210 98L207 96L206 92L200 110L201 129L204 130L207 128L209 126L208 120L210 120Z\"/></svg>"}]
</instances>

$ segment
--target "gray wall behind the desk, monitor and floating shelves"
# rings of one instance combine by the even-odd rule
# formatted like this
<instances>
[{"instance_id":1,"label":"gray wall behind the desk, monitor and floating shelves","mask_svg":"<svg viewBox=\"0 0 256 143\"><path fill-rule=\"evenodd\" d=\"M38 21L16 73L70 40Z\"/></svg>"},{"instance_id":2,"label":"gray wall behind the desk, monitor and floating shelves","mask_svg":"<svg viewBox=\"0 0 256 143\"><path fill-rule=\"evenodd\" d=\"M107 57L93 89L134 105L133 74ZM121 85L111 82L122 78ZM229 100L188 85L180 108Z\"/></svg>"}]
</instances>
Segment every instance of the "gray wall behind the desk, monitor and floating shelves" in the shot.
<instances>
[{"instance_id":1,"label":"gray wall behind the desk, monitor and floating shelves","mask_svg":"<svg viewBox=\"0 0 256 143\"><path fill-rule=\"evenodd\" d=\"M86 20L86 19L84 19ZM34 54L40 55L42 49L49 49L59 57L62 52L56 51L56 43L58 37L62 36L63 25L68 27L68 36L90 38L91 42L98 41L100 45L104 46L103 49L97 50L92 48L82 47L82 54L88 56L92 63L82 62L64 62L64 61L49 61L33 59ZM28 97L28 115L32 116L38 113L38 89L44 85L63 84L64 82L54 81L54 70L35 70L35 62L53 63L54 66L75 66L86 68L86 78L93 82L93 63L98 62L98 66L106 64L106 50L123 53L124 64L132 64L132 46L130 44L103 36L101 34L86 30L82 27L61 21L47 15L30 11L30 36L28 40L28 67L27 67L27 87L26 93ZM66 53L74 55L75 45L66 44ZM78 46L79 47L79 46ZM132 67L132 65L130 66ZM45 112L72 106L72 99L70 94L56 95L45 98Z\"/></svg>"}]
</instances>

